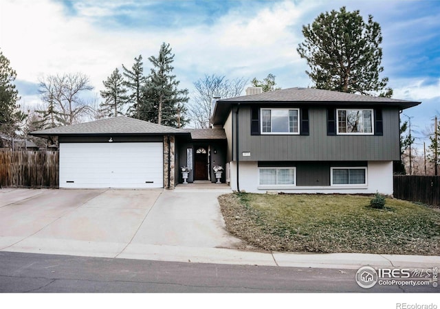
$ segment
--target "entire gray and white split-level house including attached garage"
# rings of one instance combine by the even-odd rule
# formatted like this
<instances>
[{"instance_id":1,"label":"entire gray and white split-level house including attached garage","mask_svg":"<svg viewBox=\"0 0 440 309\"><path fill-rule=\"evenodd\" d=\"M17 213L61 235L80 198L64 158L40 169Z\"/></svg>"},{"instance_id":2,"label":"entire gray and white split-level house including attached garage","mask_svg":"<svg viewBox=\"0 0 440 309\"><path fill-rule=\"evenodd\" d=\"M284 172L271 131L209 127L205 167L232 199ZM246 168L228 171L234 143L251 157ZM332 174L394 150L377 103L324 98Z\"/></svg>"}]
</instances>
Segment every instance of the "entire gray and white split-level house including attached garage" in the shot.
<instances>
[{"instance_id":1,"label":"entire gray and white split-level house including attached garage","mask_svg":"<svg viewBox=\"0 0 440 309\"><path fill-rule=\"evenodd\" d=\"M399 113L420 102L292 88L214 102L213 128L129 117L33 132L59 141L59 187L170 188L216 182L246 192L393 194ZM253 94L252 94L253 93Z\"/></svg>"}]
</instances>

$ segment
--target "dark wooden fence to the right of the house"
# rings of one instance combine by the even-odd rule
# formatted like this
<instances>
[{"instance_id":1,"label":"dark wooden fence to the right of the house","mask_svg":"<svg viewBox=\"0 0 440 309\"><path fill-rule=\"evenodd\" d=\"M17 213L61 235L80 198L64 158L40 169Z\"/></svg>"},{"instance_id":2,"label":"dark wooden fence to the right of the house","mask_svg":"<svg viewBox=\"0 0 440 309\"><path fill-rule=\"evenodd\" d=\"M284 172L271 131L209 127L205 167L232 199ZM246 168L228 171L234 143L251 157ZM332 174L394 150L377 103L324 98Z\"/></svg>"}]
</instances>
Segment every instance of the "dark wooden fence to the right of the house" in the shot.
<instances>
[{"instance_id":1,"label":"dark wooden fence to the right of the house","mask_svg":"<svg viewBox=\"0 0 440 309\"><path fill-rule=\"evenodd\" d=\"M440 176L394 176L395 198L440 206Z\"/></svg>"}]
</instances>

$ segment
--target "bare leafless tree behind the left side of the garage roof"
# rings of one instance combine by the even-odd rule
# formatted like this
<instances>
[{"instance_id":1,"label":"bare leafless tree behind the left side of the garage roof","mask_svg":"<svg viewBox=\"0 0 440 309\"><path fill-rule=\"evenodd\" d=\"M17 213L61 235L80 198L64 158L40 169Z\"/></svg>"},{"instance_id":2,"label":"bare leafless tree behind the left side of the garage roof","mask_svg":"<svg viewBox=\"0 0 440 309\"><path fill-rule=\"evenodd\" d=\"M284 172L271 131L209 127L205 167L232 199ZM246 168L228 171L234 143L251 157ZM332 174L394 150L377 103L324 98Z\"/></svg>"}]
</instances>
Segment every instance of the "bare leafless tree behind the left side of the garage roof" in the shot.
<instances>
[{"instance_id":1,"label":"bare leafless tree behind the left side of the garage roof","mask_svg":"<svg viewBox=\"0 0 440 309\"><path fill-rule=\"evenodd\" d=\"M81 117L91 113L83 93L91 91L89 78L83 73L51 75L40 80L41 98L47 104L53 104L60 115L61 125L80 122Z\"/></svg>"}]
</instances>

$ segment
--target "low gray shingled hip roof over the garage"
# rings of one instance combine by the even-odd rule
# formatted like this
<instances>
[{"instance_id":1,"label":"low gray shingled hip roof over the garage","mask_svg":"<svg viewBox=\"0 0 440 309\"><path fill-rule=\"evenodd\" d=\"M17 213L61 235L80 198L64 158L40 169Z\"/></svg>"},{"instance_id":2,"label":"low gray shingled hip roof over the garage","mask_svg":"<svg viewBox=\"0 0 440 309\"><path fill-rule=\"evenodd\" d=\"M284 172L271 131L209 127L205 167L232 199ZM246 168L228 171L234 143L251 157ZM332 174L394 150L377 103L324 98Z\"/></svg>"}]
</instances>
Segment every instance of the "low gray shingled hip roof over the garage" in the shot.
<instances>
[{"instance_id":1,"label":"low gray shingled hip roof over the garage","mask_svg":"<svg viewBox=\"0 0 440 309\"><path fill-rule=\"evenodd\" d=\"M144 120L119 116L100 119L94 122L73 124L72 126L60 126L47 130L39 130L30 133L40 137L63 136L63 135L164 135L164 134L188 134L184 130L152 124Z\"/></svg>"}]
</instances>

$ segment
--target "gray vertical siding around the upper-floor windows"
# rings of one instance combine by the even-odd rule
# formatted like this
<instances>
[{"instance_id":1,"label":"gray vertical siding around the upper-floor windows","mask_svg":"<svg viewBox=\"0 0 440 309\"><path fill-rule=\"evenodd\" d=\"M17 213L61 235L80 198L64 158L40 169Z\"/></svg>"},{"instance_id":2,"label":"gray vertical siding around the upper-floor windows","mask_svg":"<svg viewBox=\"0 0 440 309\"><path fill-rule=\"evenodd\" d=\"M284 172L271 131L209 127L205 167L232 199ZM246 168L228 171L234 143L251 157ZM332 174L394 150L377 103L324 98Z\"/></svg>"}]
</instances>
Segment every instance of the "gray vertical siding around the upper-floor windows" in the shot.
<instances>
[{"instance_id":1,"label":"gray vertical siding around the upper-floor windows","mask_svg":"<svg viewBox=\"0 0 440 309\"><path fill-rule=\"evenodd\" d=\"M239 111L241 161L399 160L399 110L382 108L384 135L327 135L327 109L309 107L309 135L251 135L251 108ZM250 152L243 157L242 152ZM235 156L234 156L235 157Z\"/></svg>"}]
</instances>

